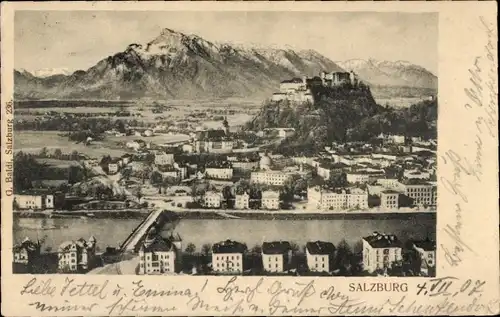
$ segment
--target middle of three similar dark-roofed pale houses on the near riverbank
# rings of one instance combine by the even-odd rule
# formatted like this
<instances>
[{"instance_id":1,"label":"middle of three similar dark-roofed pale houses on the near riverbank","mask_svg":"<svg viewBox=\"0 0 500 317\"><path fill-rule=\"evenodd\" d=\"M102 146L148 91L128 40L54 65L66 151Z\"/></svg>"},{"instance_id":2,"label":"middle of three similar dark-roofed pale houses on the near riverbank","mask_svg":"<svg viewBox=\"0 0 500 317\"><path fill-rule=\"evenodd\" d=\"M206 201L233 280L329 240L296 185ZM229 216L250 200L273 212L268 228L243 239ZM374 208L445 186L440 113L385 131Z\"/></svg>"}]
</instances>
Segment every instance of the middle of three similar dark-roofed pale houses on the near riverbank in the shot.
<instances>
[{"instance_id":1,"label":"middle of three similar dark-roofed pale houses on the near riverbank","mask_svg":"<svg viewBox=\"0 0 500 317\"><path fill-rule=\"evenodd\" d=\"M292 247L288 241L264 242L262 266L266 272L280 273L291 269Z\"/></svg>"}]
</instances>

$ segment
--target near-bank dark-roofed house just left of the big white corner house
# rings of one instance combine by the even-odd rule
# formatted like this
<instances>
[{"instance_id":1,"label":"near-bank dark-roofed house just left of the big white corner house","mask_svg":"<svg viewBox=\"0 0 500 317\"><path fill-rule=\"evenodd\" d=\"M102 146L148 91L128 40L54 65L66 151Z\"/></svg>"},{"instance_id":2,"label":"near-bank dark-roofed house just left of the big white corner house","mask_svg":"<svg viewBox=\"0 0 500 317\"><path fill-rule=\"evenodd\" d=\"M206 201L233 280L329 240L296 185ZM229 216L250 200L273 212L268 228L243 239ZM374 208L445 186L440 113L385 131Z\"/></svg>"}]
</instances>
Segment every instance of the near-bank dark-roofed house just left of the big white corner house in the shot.
<instances>
[{"instance_id":1,"label":"near-bank dark-roofed house just left of the big white corner house","mask_svg":"<svg viewBox=\"0 0 500 317\"><path fill-rule=\"evenodd\" d=\"M333 270L335 246L325 241L307 242L306 257L309 271L330 272Z\"/></svg>"}]
</instances>

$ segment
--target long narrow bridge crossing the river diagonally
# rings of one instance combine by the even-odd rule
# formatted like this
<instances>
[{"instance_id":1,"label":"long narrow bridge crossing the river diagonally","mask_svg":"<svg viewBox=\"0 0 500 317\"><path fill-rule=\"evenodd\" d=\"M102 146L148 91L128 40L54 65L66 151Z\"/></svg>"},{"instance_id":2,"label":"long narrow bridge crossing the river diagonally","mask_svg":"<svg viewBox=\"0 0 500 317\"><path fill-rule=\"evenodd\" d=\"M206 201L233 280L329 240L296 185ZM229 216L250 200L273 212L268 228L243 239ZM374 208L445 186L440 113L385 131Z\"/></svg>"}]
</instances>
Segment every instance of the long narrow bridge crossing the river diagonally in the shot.
<instances>
[{"instance_id":1,"label":"long narrow bridge crossing the river diagonally","mask_svg":"<svg viewBox=\"0 0 500 317\"><path fill-rule=\"evenodd\" d=\"M123 241L120 246L120 252L139 252L139 248L151 228L161 229L169 226L173 229L179 222L179 219L180 217L173 211L161 209L151 211Z\"/></svg>"}]
</instances>

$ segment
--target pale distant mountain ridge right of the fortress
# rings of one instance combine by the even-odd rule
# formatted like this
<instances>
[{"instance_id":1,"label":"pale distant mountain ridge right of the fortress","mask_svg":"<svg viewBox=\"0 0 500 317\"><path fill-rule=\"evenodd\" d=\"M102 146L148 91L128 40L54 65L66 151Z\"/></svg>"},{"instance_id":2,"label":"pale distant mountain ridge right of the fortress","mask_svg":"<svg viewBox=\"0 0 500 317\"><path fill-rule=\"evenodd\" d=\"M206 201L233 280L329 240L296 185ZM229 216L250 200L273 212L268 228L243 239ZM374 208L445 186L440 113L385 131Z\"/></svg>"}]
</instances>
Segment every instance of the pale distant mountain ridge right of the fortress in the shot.
<instances>
[{"instance_id":1,"label":"pale distant mountain ridge right of the fortress","mask_svg":"<svg viewBox=\"0 0 500 317\"><path fill-rule=\"evenodd\" d=\"M353 70L372 85L438 88L436 75L408 61L390 62L375 59L352 59L336 62L336 64L344 69Z\"/></svg>"}]
</instances>

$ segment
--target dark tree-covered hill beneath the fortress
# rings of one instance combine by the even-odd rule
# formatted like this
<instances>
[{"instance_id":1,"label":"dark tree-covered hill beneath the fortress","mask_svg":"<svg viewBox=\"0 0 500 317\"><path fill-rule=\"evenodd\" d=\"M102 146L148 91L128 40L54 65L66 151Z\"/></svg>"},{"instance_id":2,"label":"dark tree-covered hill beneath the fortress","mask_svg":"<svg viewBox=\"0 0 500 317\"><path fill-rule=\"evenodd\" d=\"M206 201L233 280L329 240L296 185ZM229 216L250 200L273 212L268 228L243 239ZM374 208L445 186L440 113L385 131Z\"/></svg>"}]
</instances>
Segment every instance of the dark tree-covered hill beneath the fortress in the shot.
<instances>
[{"instance_id":1,"label":"dark tree-covered hill beneath the fortress","mask_svg":"<svg viewBox=\"0 0 500 317\"><path fill-rule=\"evenodd\" d=\"M315 89L313 104L292 105L267 101L246 128L295 128L287 145L322 149L331 142L368 141L380 133L436 136L437 101L422 101L408 108L377 105L368 87Z\"/></svg>"}]
</instances>

